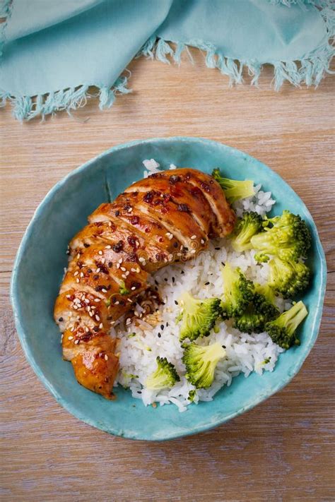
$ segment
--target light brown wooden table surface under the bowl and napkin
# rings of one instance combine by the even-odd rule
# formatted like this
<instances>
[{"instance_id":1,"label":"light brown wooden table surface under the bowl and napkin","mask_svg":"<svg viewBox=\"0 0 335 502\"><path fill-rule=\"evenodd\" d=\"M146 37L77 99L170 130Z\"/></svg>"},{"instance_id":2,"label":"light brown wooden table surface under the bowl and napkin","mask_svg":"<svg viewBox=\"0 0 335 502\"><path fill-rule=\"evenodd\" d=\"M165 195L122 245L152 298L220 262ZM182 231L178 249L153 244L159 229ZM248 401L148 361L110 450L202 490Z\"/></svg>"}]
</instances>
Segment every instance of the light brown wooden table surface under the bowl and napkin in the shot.
<instances>
[{"instance_id":1,"label":"light brown wooden table surface under the bowl and napkin","mask_svg":"<svg viewBox=\"0 0 335 502\"><path fill-rule=\"evenodd\" d=\"M259 89L229 88L194 59L180 68L135 61L134 92L106 112L90 100L74 118L44 124L0 113L2 500L334 500L335 81L275 93L266 68ZM8 285L25 227L59 179L118 143L178 135L240 148L293 186L319 229L327 297L317 343L280 393L213 431L134 442L79 422L49 395L18 342Z\"/></svg>"}]
</instances>

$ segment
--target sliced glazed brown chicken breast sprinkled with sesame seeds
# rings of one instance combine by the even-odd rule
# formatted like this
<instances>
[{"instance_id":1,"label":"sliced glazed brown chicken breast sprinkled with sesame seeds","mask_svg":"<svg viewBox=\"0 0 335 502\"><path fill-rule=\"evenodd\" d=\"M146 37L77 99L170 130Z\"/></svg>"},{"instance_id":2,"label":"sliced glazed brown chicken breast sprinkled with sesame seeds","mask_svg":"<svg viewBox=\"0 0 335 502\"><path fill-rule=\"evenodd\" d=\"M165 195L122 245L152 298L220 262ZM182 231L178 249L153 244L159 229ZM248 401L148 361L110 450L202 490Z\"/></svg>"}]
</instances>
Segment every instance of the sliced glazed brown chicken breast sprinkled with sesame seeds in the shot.
<instances>
[{"instance_id":1,"label":"sliced glazed brown chicken breast sprinkled with sesame seeds","mask_svg":"<svg viewBox=\"0 0 335 502\"><path fill-rule=\"evenodd\" d=\"M149 274L196 256L234 225L221 186L195 169L151 174L88 217L69 244L54 306L64 359L82 386L112 398L119 361L110 327L148 288Z\"/></svg>"}]
</instances>

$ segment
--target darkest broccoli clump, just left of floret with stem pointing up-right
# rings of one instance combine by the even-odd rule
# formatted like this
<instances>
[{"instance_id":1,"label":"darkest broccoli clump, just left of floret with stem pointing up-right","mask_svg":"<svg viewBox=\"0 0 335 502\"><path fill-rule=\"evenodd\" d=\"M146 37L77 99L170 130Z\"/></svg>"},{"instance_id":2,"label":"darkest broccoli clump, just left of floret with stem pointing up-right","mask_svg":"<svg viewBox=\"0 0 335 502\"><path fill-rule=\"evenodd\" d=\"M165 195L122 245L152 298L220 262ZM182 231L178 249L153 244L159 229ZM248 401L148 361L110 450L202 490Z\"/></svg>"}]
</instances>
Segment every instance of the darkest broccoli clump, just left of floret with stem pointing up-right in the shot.
<instances>
[{"instance_id":1,"label":"darkest broccoli clump, just left of floret with stem pointing up-right","mask_svg":"<svg viewBox=\"0 0 335 502\"><path fill-rule=\"evenodd\" d=\"M279 316L274 303L274 292L269 285L254 285L254 296L240 316L235 317L234 327L242 333L261 333L265 324Z\"/></svg>"}]
</instances>

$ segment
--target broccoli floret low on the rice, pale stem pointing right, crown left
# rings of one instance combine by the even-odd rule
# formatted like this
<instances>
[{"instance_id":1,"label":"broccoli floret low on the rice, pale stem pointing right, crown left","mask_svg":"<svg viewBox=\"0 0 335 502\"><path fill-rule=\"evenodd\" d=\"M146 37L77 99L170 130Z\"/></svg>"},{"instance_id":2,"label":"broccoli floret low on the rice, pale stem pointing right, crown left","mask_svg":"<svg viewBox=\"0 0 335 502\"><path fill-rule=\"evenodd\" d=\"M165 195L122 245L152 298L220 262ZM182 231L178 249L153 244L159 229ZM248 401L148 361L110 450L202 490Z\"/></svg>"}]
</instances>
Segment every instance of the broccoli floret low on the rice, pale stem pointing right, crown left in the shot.
<instances>
[{"instance_id":1,"label":"broccoli floret low on the rice, pale stem pointing right, crown left","mask_svg":"<svg viewBox=\"0 0 335 502\"><path fill-rule=\"evenodd\" d=\"M206 347L190 343L184 349L182 361L186 366L186 378L197 389L208 388L214 380L214 371L220 359L225 357L225 349L218 343Z\"/></svg>"}]
</instances>

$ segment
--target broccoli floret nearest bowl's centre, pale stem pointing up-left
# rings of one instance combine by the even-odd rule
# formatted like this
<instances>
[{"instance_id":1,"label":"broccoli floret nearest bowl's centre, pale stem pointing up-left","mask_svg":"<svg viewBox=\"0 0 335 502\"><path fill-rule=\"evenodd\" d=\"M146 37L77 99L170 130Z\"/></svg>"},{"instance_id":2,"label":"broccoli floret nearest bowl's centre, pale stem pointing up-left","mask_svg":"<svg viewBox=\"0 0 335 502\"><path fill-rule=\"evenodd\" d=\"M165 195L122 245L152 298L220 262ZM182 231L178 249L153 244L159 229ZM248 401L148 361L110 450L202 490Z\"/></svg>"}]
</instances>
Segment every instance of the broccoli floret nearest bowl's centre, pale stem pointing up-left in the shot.
<instances>
[{"instance_id":1,"label":"broccoli floret nearest bowl's centre, pale stem pointing up-left","mask_svg":"<svg viewBox=\"0 0 335 502\"><path fill-rule=\"evenodd\" d=\"M221 316L221 300L219 298L196 299L191 294L182 294L179 303L182 306L177 322L182 321L180 326L180 340L189 338L196 340L198 337L208 336Z\"/></svg>"}]
</instances>

